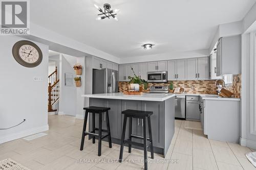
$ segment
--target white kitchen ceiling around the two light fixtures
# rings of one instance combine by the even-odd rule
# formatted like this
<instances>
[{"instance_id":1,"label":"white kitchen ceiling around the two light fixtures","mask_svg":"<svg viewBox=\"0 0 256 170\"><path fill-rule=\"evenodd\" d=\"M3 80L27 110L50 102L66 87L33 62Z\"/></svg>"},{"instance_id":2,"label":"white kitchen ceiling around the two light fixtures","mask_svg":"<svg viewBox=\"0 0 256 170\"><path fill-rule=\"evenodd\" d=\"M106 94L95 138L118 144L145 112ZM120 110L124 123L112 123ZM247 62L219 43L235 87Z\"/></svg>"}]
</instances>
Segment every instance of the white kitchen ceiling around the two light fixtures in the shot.
<instances>
[{"instance_id":1,"label":"white kitchen ceiling around the two light fixtures","mask_svg":"<svg viewBox=\"0 0 256 170\"><path fill-rule=\"evenodd\" d=\"M256 0L33 0L31 21L113 56L209 48L218 25L242 20ZM95 20L97 4L120 9L118 21ZM153 43L152 50L143 50Z\"/></svg>"}]
</instances>

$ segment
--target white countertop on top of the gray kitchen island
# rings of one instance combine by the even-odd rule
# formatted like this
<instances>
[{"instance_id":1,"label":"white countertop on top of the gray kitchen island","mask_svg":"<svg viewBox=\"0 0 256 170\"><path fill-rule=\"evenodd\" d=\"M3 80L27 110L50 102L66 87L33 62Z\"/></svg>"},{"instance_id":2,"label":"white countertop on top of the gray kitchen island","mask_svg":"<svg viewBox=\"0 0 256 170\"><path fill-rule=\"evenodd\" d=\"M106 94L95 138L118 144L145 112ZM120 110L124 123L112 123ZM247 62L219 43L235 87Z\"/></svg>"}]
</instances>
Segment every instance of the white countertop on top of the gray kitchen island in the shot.
<instances>
[{"instance_id":1,"label":"white countertop on top of the gray kitchen island","mask_svg":"<svg viewBox=\"0 0 256 170\"><path fill-rule=\"evenodd\" d=\"M99 98L99 99L120 99L120 100L135 100L135 101L157 101L163 102L169 98L174 97L175 94L156 94L143 93L141 95L125 95L123 93L101 93L101 94L83 94L83 98Z\"/></svg>"}]
</instances>

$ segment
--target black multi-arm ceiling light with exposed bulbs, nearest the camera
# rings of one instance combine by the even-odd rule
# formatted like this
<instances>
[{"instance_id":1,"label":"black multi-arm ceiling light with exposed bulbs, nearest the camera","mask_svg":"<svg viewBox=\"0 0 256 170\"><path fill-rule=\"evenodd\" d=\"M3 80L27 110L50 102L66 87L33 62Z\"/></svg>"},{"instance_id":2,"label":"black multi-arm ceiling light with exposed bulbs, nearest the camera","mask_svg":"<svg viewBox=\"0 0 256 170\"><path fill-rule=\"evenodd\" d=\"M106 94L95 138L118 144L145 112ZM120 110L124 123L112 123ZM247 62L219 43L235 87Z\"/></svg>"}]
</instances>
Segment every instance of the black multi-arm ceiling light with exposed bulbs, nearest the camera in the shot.
<instances>
[{"instance_id":1,"label":"black multi-arm ceiling light with exposed bulbs, nearest the camera","mask_svg":"<svg viewBox=\"0 0 256 170\"><path fill-rule=\"evenodd\" d=\"M96 4L94 4L95 8L97 8L97 10L99 10L99 12L101 12L100 14L98 14L99 17L96 18L96 20L101 20L101 19L105 19L105 18L114 18L115 20L118 20L116 15L117 13L119 12L119 9L114 9L114 10L111 10L111 6L110 4L104 4L103 5L103 8L104 8L104 11L99 8ZM103 15L103 16L100 16L100 15Z\"/></svg>"}]
</instances>

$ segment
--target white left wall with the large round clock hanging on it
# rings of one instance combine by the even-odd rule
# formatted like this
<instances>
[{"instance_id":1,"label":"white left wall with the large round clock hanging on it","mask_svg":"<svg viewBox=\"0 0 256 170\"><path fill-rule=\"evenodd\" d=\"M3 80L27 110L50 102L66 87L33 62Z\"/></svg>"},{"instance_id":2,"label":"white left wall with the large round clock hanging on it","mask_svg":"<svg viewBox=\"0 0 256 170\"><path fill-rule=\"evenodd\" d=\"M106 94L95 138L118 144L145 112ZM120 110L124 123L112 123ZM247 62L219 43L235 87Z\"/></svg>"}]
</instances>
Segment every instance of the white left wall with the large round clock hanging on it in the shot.
<instances>
[{"instance_id":1,"label":"white left wall with the large round clock hanging on it","mask_svg":"<svg viewBox=\"0 0 256 170\"><path fill-rule=\"evenodd\" d=\"M42 51L42 62L34 68L18 64L12 56L15 36L0 38L0 143L48 130L48 46L35 42ZM35 82L34 78L42 78Z\"/></svg>"}]
</instances>

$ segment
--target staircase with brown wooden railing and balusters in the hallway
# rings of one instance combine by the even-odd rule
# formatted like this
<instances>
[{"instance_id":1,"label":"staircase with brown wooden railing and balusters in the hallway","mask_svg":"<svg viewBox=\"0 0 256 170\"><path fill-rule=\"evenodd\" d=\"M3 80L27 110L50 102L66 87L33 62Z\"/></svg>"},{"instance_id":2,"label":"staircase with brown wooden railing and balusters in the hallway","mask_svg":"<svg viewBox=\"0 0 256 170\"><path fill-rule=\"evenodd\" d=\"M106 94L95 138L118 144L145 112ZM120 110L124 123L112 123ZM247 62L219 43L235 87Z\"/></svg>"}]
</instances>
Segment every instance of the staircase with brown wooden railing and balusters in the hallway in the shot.
<instances>
[{"instance_id":1,"label":"staircase with brown wooden railing and balusters in the hallway","mask_svg":"<svg viewBox=\"0 0 256 170\"><path fill-rule=\"evenodd\" d=\"M48 76L48 112L55 112L52 106L59 100L59 79L57 78L57 67L55 71Z\"/></svg>"}]
</instances>

